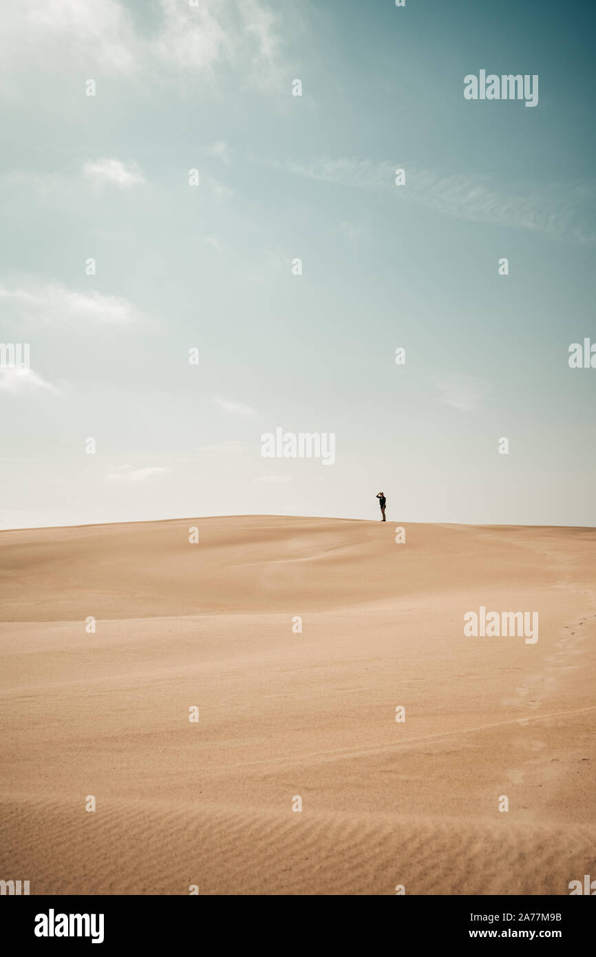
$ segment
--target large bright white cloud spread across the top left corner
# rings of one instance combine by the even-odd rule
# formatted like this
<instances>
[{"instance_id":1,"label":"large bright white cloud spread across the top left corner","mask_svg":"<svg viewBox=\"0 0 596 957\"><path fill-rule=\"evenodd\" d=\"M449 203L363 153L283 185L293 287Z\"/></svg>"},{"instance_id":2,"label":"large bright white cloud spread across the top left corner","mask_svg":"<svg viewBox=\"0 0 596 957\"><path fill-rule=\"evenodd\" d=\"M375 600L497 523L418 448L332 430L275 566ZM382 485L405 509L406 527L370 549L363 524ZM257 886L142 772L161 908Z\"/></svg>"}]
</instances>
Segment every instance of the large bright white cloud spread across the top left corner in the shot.
<instances>
[{"instance_id":1,"label":"large bright white cloud spread across the top left corner","mask_svg":"<svg viewBox=\"0 0 596 957\"><path fill-rule=\"evenodd\" d=\"M236 69L243 85L275 86L283 75L283 41L292 8L275 11L261 0L157 0L133 17L119 0L19 0L3 23L7 51L25 51L25 64L59 55L65 70L87 77L126 77L174 83L188 93L188 78L216 83L220 68ZM145 16L144 13L148 15ZM3 57L4 58L4 57ZM99 70L98 70L99 67ZM7 77L9 78L9 77ZM99 80L99 85L101 80ZM18 85L5 84L11 93Z\"/></svg>"}]
</instances>

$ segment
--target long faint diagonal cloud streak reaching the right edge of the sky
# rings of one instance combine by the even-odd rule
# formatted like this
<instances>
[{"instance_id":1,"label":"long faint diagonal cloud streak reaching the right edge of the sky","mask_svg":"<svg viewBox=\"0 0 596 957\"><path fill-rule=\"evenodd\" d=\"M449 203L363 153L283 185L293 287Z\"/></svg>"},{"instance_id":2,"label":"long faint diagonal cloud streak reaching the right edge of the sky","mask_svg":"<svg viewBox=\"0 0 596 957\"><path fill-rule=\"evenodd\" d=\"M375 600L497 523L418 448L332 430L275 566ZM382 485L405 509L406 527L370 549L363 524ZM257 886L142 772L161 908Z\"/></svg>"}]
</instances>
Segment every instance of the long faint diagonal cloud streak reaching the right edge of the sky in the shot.
<instances>
[{"instance_id":1,"label":"long faint diagonal cloud streak reaching the right edge of the sky","mask_svg":"<svg viewBox=\"0 0 596 957\"><path fill-rule=\"evenodd\" d=\"M365 159L322 158L310 163L264 163L296 176L335 183L352 189L385 190L399 202L418 206L471 222L490 223L530 230L582 243L596 241L585 229L585 204L596 199L594 183L552 183L537 186L518 183L498 185L484 174L444 175L409 162L375 163ZM406 170L406 184L395 186L395 171Z\"/></svg>"}]
</instances>

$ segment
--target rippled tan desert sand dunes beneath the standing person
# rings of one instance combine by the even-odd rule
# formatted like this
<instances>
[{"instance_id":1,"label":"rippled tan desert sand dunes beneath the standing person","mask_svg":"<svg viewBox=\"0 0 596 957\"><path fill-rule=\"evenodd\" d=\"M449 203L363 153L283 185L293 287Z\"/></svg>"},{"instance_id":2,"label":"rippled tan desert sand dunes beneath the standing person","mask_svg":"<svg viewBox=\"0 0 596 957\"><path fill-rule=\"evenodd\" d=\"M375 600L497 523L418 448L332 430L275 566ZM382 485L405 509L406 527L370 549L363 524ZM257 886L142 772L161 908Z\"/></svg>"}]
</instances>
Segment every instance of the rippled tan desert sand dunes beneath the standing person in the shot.
<instances>
[{"instance_id":1,"label":"rippled tan desert sand dunes beneath the standing person","mask_svg":"<svg viewBox=\"0 0 596 957\"><path fill-rule=\"evenodd\" d=\"M2 532L0 876L81 895L596 879L595 545L271 516ZM539 640L466 636L480 606L539 612Z\"/></svg>"}]
</instances>

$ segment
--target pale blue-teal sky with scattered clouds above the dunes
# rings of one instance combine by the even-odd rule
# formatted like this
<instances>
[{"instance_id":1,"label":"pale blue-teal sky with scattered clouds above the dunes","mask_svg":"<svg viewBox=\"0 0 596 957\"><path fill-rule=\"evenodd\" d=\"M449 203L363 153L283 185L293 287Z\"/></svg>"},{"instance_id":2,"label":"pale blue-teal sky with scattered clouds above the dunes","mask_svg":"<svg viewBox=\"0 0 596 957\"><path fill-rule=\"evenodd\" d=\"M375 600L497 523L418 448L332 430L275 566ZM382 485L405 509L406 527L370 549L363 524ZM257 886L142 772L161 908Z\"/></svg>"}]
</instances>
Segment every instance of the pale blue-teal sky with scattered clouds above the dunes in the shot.
<instances>
[{"instance_id":1,"label":"pale blue-teal sky with scattered clouds above the dunes","mask_svg":"<svg viewBox=\"0 0 596 957\"><path fill-rule=\"evenodd\" d=\"M30 368L5 350L0 528L378 519L381 490L395 523L596 525L590 6L2 18L0 341ZM480 70L537 105L466 100ZM335 460L264 457L276 429Z\"/></svg>"}]
</instances>

